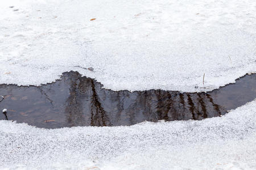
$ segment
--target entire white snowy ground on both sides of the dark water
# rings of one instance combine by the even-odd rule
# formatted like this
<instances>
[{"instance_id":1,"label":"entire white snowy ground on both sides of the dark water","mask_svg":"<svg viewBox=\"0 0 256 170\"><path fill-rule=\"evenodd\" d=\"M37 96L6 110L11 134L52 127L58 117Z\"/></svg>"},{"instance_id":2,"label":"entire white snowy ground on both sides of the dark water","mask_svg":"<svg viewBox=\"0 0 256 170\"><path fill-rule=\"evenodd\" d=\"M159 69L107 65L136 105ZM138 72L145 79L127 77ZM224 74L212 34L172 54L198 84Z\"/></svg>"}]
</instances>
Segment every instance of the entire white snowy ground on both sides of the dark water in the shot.
<instances>
[{"instance_id":1,"label":"entire white snowy ground on both sides of the dark water","mask_svg":"<svg viewBox=\"0 0 256 170\"><path fill-rule=\"evenodd\" d=\"M254 0L1 1L0 84L74 70L112 90L209 91L256 72L255 28ZM255 100L203 121L55 130L0 121L0 168L255 169L255 122Z\"/></svg>"}]
</instances>

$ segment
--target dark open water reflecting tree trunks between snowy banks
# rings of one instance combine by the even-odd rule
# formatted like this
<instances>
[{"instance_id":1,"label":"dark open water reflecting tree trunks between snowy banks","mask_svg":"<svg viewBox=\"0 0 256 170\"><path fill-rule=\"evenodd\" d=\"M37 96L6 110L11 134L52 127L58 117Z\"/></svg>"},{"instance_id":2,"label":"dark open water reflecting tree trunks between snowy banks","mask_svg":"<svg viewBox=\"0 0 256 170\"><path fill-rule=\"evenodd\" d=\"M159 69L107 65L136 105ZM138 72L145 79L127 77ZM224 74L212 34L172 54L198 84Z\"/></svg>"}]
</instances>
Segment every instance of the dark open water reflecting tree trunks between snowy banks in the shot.
<instances>
[{"instance_id":1,"label":"dark open water reflecting tree trunks between snowy banks","mask_svg":"<svg viewBox=\"0 0 256 170\"><path fill-rule=\"evenodd\" d=\"M202 120L225 114L256 98L256 74L208 93L111 91L77 72L40 87L0 85L0 119L43 128L119 126L142 121ZM242 116L242 115L241 115Z\"/></svg>"}]
</instances>

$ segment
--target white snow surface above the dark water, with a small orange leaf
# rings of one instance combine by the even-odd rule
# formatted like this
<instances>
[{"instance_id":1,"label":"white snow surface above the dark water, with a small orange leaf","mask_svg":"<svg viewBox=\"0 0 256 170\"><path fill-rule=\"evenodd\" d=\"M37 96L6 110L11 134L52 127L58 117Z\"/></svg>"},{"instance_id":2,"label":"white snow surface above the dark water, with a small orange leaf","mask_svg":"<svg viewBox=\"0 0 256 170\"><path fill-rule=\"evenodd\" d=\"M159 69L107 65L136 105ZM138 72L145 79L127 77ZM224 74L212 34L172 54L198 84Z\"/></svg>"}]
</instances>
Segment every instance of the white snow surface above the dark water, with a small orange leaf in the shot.
<instances>
[{"instance_id":1,"label":"white snow surface above the dark water, with a small orange leaf","mask_svg":"<svg viewBox=\"0 0 256 170\"><path fill-rule=\"evenodd\" d=\"M1 1L0 32L0 84L74 70L112 90L195 92L256 72L254 0Z\"/></svg>"}]
</instances>

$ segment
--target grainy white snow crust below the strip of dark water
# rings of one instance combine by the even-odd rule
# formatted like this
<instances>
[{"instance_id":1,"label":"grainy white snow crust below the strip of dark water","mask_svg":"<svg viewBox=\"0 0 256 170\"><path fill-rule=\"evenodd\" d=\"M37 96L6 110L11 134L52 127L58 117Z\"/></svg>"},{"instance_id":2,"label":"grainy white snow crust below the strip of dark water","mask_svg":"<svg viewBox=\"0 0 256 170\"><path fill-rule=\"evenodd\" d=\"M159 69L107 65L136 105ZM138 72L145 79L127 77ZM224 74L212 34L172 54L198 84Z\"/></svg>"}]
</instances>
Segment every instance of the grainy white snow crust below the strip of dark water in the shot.
<instances>
[{"instance_id":1,"label":"grainy white snow crust below the strip of dark water","mask_svg":"<svg viewBox=\"0 0 256 170\"><path fill-rule=\"evenodd\" d=\"M39 129L0 121L0 168L255 169L256 100L202 121Z\"/></svg>"}]
</instances>

